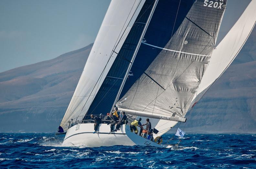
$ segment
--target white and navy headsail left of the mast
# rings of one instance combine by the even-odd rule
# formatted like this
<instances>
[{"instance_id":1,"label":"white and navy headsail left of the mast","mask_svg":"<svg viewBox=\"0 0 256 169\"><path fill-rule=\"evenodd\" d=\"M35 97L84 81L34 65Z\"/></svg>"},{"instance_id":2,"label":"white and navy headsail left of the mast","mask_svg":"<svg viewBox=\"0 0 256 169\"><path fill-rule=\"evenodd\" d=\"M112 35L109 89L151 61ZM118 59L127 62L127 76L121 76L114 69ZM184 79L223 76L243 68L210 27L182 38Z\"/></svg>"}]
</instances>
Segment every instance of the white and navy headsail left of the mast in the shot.
<instances>
[{"instance_id":1,"label":"white and navy headsail left of the mast","mask_svg":"<svg viewBox=\"0 0 256 169\"><path fill-rule=\"evenodd\" d=\"M128 61L130 64L129 59L133 56L154 5L155 0L113 0L111 2L62 119L59 132L67 131L70 119L82 120L88 111L92 113L95 107L104 103L102 99L106 95L111 97L108 100L112 100L111 104L113 104L125 76L123 72L126 72L125 70L121 75L115 75L117 71L114 70L126 64L123 62ZM111 89L117 89L117 91L110 91ZM91 105L93 108L90 109ZM101 111L106 113L111 107L112 105L110 108L106 106Z\"/></svg>"}]
</instances>

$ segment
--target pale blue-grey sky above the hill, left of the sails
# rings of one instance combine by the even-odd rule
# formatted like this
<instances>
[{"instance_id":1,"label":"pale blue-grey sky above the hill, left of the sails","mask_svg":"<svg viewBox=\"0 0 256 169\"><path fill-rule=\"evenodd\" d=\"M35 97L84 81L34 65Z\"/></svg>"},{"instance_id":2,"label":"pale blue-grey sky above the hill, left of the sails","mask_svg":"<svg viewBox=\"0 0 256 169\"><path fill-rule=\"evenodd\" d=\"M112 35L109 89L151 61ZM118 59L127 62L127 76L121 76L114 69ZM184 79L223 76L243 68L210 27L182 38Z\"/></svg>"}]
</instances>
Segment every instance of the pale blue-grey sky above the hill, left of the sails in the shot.
<instances>
[{"instance_id":1,"label":"pale blue-grey sky above the hill, left of the sails","mask_svg":"<svg viewBox=\"0 0 256 169\"><path fill-rule=\"evenodd\" d=\"M0 0L0 72L94 42L110 0Z\"/></svg>"}]
</instances>

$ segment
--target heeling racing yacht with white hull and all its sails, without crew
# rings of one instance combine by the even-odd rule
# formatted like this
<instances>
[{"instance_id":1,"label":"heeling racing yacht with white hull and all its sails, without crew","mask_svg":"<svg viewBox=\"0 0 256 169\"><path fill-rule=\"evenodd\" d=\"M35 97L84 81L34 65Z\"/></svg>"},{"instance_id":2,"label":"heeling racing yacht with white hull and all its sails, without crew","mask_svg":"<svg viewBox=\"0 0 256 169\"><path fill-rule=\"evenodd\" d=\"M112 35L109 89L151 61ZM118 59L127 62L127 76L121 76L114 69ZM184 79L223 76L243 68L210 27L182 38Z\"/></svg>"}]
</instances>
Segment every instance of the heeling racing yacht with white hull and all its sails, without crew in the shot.
<instances>
[{"instance_id":1,"label":"heeling racing yacht with white hull and all its sails, without crew","mask_svg":"<svg viewBox=\"0 0 256 169\"><path fill-rule=\"evenodd\" d=\"M171 147L132 133L130 121L150 118L154 138L185 123L240 52L255 8L256 0L112 0L59 126L63 145ZM127 123L93 133L90 115L114 107Z\"/></svg>"}]
</instances>

